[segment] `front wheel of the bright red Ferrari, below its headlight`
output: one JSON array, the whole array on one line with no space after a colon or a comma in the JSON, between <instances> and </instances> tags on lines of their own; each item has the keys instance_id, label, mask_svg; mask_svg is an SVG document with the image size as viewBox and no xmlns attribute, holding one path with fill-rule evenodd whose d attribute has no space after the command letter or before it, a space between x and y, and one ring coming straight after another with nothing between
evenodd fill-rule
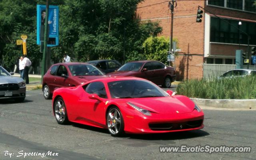
<instances>
[{"instance_id":1,"label":"front wheel of the bright red Ferrari, below its headlight","mask_svg":"<svg viewBox=\"0 0 256 160\"><path fill-rule=\"evenodd\" d=\"M108 131L112 136L121 136L124 134L124 119L119 108L111 107L107 114Z\"/></svg>"}]
</instances>

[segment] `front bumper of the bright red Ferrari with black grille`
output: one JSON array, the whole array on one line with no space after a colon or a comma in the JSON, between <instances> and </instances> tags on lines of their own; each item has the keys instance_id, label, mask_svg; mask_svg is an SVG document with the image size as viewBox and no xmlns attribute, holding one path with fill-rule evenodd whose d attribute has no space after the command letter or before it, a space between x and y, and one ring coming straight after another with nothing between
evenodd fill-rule
<instances>
[{"instance_id":1,"label":"front bumper of the bright red Ferrari with black grille","mask_svg":"<svg viewBox=\"0 0 256 160\"><path fill-rule=\"evenodd\" d=\"M131 134L150 134L198 130L204 128L204 113L194 110L184 114L124 115L124 131Z\"/></svg>"}]
</instances>

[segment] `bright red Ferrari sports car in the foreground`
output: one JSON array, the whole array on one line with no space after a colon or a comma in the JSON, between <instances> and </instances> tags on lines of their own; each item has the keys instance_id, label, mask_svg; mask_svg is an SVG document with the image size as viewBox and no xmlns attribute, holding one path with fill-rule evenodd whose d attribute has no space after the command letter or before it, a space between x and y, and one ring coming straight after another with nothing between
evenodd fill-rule
<instances>
[{"instance_id":1,"label":"bright red Ferrari sports car in the foreground","mask_svg":"<svg viewBox=\"0 0 256 160\"><path fill-rule=\"evenodd\" d=\"M204 127L204 113L190 98L136 77L102 78L58 88L52 108L59 124L71 121L107 128L112 136Z\"/></svg>"}]
</instances>

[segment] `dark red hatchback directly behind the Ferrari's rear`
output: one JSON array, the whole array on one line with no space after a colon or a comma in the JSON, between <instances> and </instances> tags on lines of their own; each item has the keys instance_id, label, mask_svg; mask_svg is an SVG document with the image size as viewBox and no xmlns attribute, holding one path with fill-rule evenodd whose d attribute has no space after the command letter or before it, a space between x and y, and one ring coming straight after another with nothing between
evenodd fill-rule
<instances>
[{"instance_id":1,"label":"dark red hatchback directly behind the Ferrari's rear","mask_svg":"<svg viewBox=\"0 0 256 160\"><path fill-rule=\"evenodd\" d=\"M52 92L56 88L77 86L104 77L107 76L91 64L79 62L53 64L43 77L44 98L52 98Z\"/></svg>"}]
</instances>

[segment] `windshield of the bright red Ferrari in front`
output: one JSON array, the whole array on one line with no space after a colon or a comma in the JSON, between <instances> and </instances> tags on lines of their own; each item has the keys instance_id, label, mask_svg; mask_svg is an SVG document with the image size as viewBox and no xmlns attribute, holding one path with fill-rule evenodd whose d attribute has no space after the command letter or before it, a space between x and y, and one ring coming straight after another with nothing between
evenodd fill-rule
<instances>
[{"instance_id":1,"label":"windshield of the bright red Ferrari in front","mask_svg":"<svg viewBox=\"0 0 256 160\"><path fill-rule=\"evenodd\" d=\"M108 82L112 98L146 98L168 96L164 90L145 80L120 80Z\"/></svg>"}]
</instances>

